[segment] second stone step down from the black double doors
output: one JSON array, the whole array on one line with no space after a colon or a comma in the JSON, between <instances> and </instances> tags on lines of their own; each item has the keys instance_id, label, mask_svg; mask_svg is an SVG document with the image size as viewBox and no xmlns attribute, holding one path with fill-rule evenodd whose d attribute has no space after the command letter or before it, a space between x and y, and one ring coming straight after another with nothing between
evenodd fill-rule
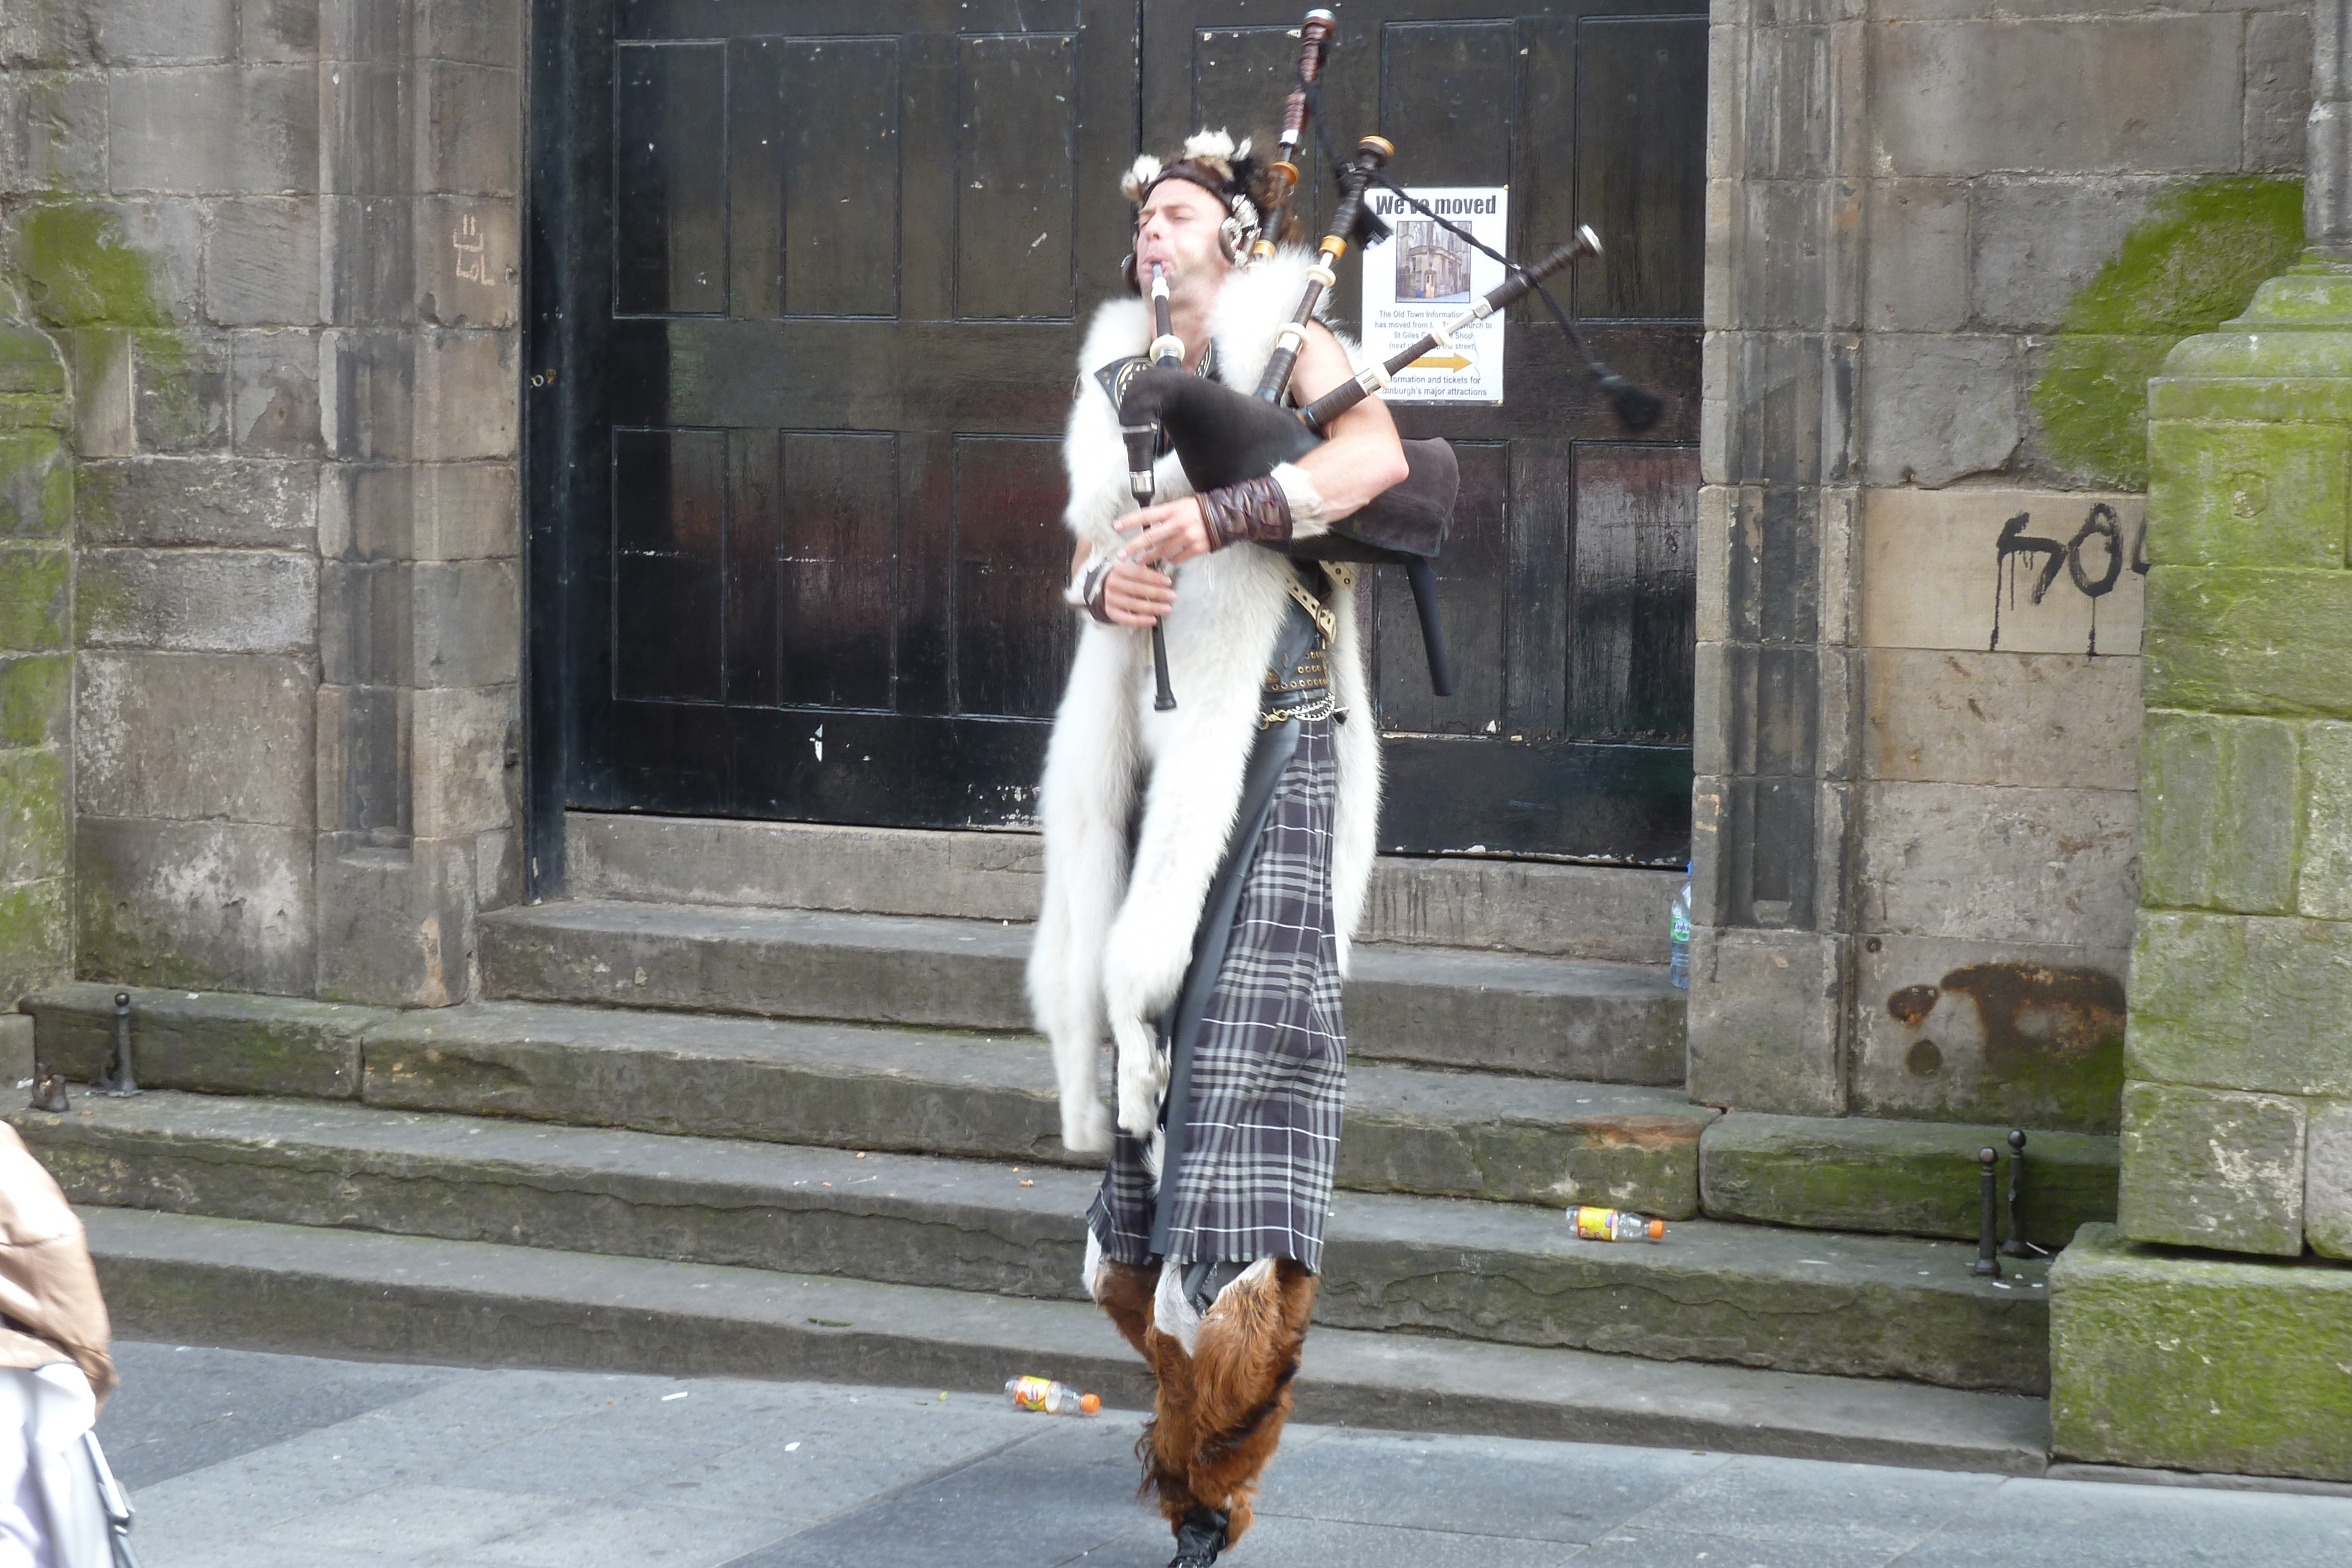
<instances>
[{"instance_id":1,"label":"second stone step down from the black double doors","mask_svg":"<svg viewBox=\"0 0 2352 1568\"><path fill-rule=\"evenodd\" d=\"M480 922L482 994L1025 1032L1030 926L830 910L567 900ZM1682 1084L1663 969L1517 952L1359 947L1357 1060L1595 1084Z\"/></svg>"}]
</instances>

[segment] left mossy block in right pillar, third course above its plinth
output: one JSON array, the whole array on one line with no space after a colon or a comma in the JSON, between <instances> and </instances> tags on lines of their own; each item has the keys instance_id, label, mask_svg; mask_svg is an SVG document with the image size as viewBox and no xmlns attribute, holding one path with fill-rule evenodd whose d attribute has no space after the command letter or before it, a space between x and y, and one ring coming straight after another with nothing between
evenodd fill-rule
<instances>
[{"instance_id":1,"label":"left mossy block in right pillar, third course above its plinth","mask_svg":"<svg viewBox=\"0 0 2352 1568\"><path fill-rule=\"evenodd\" d=\"M2140 750L2140 893L2152 907L2288 914L2303 726L2154 710Z\"/></svg>"}]
</instances>

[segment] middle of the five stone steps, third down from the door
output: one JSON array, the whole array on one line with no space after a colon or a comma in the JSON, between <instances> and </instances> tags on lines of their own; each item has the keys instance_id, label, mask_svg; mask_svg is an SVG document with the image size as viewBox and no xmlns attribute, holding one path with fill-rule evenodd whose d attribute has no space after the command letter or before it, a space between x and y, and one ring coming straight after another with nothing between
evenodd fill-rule
<instances>
[{"instance_id":1,"label":"middle of the five stone steps, third down from the door","mask_svg":"<svg viewBox=\"0 0 2352 1568\"><path fill-rule=\"evenodd\" d=\"M1091 1164L1061 1147L1047 1048L776 1018L473 1001L395 1011L134 990L139 1081L202 1093L358 1098L652 1133ZM26 1001L40 1053L92 1081L111 985ZM1522 1204L1698 1213L1698 1135L1679 1091L1357 1063L1338 1180Z\"/></svg>"}]
</instances>

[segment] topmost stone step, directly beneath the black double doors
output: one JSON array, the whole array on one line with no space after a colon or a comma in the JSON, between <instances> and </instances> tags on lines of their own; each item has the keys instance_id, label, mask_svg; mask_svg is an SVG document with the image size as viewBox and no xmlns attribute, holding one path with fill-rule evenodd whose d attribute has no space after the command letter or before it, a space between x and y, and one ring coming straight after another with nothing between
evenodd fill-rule
<instances>
[{"instance_id":1,"label":"topmost stone step, directly beneath the black double doors","mask_svg":"<svg viewBox=\"0 0 2352 1568\"><path fill-rule=\"evenodd\" d=\"M1037 919L1035 832L929 832L572 811L572 898ZM1367 943L1656 964L1682 872L1484 856L1381 856Z\"/></svg>"}]
</instances>

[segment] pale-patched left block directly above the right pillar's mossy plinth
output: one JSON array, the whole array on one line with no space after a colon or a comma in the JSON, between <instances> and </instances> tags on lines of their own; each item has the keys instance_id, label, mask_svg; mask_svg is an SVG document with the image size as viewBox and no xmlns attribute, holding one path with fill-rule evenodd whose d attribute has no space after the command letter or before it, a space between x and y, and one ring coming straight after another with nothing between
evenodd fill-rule
<instances>
[{"instance_id":1,"label":"pale-patched left block directly above the right pillar's mossy plinth","mask_svg":"<svg viewBox=\"0 0 2352 1568\"><path fill-rule=\"evenodd\" d=\"M2133 1241L2303 1251L2303 1100L2124 1084L2117 1222Z\"/></svg>"}]
</instances>

